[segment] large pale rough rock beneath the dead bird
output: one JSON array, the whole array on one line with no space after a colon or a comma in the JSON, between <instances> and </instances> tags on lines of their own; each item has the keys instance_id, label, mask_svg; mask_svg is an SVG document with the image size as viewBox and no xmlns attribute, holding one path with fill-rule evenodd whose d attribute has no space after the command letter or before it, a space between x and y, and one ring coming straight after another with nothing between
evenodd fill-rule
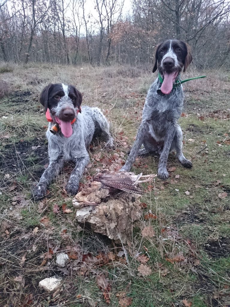
<instances>
[{"instance_id":1,"label":"large pale rough rock beneath the dead bird","mask_svg":"<svg viewBox=\"0 0 230 307\"><path fill-rule=\"evenodd\" d=\"M118 243L122 241L123 244L132 238L132 228L143 212L140 195L127 192L108 198L98 206L79 208L79 202L75 199L73 205L78 209L75 223L117 240Z\"/></svg>"}]
</instances>

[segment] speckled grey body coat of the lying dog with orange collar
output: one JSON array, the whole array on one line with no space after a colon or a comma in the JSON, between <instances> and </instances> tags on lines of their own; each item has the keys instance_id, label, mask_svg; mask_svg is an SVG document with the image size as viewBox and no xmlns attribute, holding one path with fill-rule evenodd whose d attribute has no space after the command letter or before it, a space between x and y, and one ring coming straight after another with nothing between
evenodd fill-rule
<instances>
[{"instance_id":1,"label":"speckled grey body coat of the lying dog with orange collar","mask_svg":"<svg viewBox=\"0 0 230 307\"><path fill-rule=\"evenodd\" d=\"M66 102L60 102L62 105ZM73 108L71 103L67 105ZM59 108L56 107L57 109ZM75 112L76 112L75 108ZM38 185L33 189L33 197L39 199L46 194L48 186L58 175L65 161L75 161L66 190L68 194L75 195L78 192L79 181L82 173L89 163L90 158L86 148L89 147L93 137L102 136L107 146L113 146L113 138L109 133L109 123L101 110L97 107L82 107L82 113L78 113L76 121L72 125L73 134L65 138L59 130L56 135L50 132L53 123L49 123L46 136L48 139L49 166L44 171Z\"/></svg>"}]
</instances>

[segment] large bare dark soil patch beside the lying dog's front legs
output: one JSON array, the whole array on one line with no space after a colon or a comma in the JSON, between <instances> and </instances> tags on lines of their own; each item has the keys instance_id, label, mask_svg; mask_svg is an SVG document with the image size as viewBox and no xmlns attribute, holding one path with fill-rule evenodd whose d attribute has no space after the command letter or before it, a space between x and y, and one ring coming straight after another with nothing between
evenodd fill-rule
<instances>
[{"instance_id":1,"label":"large bare dark soil patch beside the lying dog's front legs","mask_svg":"<svg viewBox=\"0 0 230 307\"><path fill-rule=\"evenodd\" d=\"M48 163L48 146L44 139L11 143L4 149L4 158L0 162L3 173L28 173L27 170L30 170L33 178L38 179Z\"/></svg>"}]
</instances>

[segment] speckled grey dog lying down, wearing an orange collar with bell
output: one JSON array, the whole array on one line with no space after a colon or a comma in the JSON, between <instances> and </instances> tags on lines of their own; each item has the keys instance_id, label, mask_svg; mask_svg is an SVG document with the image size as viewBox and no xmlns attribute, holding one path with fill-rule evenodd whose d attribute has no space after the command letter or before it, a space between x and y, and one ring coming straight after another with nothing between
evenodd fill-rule
<instances>
[{"instance_id":1,"label":"speckled grey dog lying down, wearing an orange collar with bell","mask_svg":"<svg viewBox=\"0 0 230 307\"><path fill-rule=\"evenodd\" d=\"M38 185L33 189L34 199L46 194L52 180L58 175L65 161L74 161L66 191L75 195L79 189L79 180L89 163L87 148L95 137L103 137L106 145L113 147L113 138L109 133L109 123L97 107L82 107L82 95L72 85L49 84L41 95L49 123L48 139L49 166L44 171ZM51 128L56 123L56 134Z\"/></svg>"}]
</instances>

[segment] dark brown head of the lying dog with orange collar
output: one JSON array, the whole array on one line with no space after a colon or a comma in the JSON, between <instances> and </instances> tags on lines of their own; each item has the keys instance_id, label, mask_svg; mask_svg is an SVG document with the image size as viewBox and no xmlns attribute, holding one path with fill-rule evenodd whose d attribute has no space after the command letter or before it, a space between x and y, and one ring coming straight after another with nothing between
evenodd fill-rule
<instances>
[{"instance_id":1,"label":"dark brown head of the lying dog with orange collar","mask_svg":"<svg viewBox=\"0 0 230 307\"><path fill-rule=\"evenodd\" d=\"M71 122L81 112L82 94L73 86L63 83L48 84L40 94L40 103L50 110L53 122L59 124L64 136L72 135Z\"/></svg>"}]
</instances>

